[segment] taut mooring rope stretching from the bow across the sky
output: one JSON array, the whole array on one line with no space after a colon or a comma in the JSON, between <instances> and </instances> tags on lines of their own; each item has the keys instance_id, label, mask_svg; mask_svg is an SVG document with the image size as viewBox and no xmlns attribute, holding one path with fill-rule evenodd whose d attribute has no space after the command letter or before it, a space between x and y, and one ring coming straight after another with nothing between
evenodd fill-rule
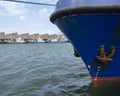
<instances>
[{"instance_id":1,"label":"taut mooring rope stretching from the bow across the sky","mask_svg":"<svg viewBox=\"0 0 120 96\"><path fill-rule=\"evenodd\" d=\"M35 5L43 5L43 6L56 6L54 4L29 2L29 1L20 1L20 0L1 0L1 1L9 1L9 2L16 2L16 3L26 3L26 4L35 4Z\"/></svg>"}]
</instances>

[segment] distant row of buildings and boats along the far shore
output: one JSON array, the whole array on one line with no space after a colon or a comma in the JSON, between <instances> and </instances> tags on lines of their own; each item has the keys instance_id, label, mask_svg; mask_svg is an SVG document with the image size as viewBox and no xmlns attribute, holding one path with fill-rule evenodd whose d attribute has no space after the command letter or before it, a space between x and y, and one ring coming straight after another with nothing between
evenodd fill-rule
<instances>
[{"instance_id":1,"label":"distant row of buildings and boats along the far shore","mask_svg":"<svg viewBox=\"0 0 120 96\"><path fill-rule=\"evenodd\" d=\"M16 44L16 43L35 43L35 42L61 42L68 40L63 34L42 34L39 33L29 34L24 33L18 35L17 32L5 34L5 32L0 32L0 43L9 43L9 44Z\"/></svg>"}]
</instances>

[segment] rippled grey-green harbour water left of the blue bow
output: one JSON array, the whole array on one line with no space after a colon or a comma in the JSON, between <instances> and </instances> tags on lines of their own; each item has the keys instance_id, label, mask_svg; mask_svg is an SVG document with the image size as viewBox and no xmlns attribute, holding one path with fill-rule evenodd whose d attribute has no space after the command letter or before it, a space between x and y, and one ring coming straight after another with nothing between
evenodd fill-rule
<instances>
[{"instance_id":1,"label":"rippled grey-green harbour water left of the blue bow","mask_svg":"<svg viewBox=\"0 0 120 96\"><path fill-rule=\"evenodd\" d=\"M0 96L90 96L71 44L0 45Z\"/></svg>"}]
</instances>

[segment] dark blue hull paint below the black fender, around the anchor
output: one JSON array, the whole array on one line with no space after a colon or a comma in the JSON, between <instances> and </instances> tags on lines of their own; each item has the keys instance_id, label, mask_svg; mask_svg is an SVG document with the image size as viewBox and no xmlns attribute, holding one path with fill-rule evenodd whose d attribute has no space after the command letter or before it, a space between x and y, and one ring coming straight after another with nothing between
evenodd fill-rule
<instances>
[{"instance_id":1,"label":"dark blue hull paint below the black fender, around the anchor","mask_svg":"<svg viewBox=\"0 0 120 96\"><path fill-rule=\"evenodd\" d=\"M101 68L99 77L120 76L120 35L117 41L111 42L113 33L120 24L120 15L74 15L57 19L55 24L78 50L86 67L90 65L91 68L88 69L92 77L95 77L97 72L93 59L100 45L105 45L106 52L111 46L116 46L113 62Z\"/></svg>"}]
</instances>

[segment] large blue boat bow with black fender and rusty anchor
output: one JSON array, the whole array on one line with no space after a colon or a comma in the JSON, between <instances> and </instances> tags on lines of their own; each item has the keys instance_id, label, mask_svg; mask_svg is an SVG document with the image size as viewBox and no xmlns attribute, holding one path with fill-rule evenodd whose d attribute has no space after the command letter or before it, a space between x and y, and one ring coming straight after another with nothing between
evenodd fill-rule
<instances>
[{"instance_id":1,"label":"large blue boat bow with black fender and rusty anchor","mask_svg":"<svg viewBox=\"0 0 120 96\"><path fill-rule=\"evenodd\" d=\"M50 20L77 50L93 82L120 81L120 0L59 0Z\"/></svg>"}]
</instances>

